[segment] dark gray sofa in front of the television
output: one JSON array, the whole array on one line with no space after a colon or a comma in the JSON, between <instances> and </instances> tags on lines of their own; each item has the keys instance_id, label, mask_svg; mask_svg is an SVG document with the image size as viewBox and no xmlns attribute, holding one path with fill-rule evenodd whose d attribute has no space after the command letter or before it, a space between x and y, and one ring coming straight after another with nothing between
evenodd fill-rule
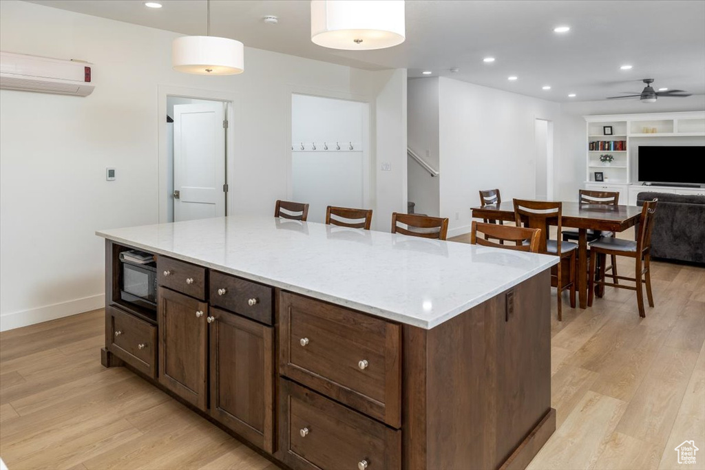
<instances>
[{"instance_id":1,"label":"dark gray sofa in front of the television","mask_svg":"<svg viewBox=\"0 0 705 470\"><path fill-rule=\"evenodd\" d=\"M705 196L639 192L637 205L658 199L651 256L705 264Z\"/></svg>"}]
</instances>

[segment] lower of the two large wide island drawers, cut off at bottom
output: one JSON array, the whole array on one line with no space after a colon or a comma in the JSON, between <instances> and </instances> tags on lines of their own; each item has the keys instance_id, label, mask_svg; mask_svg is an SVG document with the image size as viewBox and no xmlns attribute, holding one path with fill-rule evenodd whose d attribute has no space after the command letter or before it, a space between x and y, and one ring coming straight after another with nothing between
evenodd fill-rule
<instances>
[{"instance_id":1,"label":"lower of the two large wide island drawers, cut off at bottom","mask_svg":"<svg viewBox=\"0 0 705 470\"><path fill-rule=\"evenodd\" d=\"M278 456L293 469L401 468L401 431L280 379Z\"/></svg>"}]
</instances>

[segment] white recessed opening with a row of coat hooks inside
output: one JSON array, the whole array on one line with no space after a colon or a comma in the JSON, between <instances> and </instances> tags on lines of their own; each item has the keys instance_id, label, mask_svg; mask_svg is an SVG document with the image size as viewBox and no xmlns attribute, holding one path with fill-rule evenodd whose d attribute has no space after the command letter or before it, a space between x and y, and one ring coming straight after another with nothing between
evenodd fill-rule
<instances>
[{"instance_id":1,"label":"white recessed opening with a row of coat hooks inside","mask_svg":"<svg viewBox=\"0 0 705 470\"><path fill-rule=\"evenodd\" d=\"M369 208L369 105L292 94L292 197L324 222L326 206Z\"/></svg>"}]
</instances>

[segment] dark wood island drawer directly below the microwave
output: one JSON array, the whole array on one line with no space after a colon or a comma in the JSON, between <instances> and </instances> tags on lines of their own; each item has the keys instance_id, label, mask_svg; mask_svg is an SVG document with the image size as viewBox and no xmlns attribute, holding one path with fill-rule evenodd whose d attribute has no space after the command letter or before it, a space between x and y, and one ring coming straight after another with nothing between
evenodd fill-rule
<instances>
[{"instance_id":1,"label":"dark wood island drawer directly below the microwave","mask_svg":"<svg viewBox=\"0 0 705 470\"><path fill-rule=\"evenodd\" d=\"M105 307L110 352L150 377L157 377L157 326L115 307Z\"/></svg>"}]
</instances>

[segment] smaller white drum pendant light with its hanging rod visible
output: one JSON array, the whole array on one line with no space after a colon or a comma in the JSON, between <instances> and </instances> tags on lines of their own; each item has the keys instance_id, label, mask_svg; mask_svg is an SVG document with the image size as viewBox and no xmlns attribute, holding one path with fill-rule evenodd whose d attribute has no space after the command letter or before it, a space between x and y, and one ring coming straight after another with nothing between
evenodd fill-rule
<instances>
[{"instance_id":1,"label":"smaller white drum pendant light with its hanging rod visible","mask_svg":"<svg viewBox=\"0 0 705 470\"><path fill-rule=\"evenodd\" d=\"M198 75L235 75L245 71L243 43L211 36L211 0L208 3L207 36L183 36L171 44L174 70Z\"/></svg>"}]
</instances>

